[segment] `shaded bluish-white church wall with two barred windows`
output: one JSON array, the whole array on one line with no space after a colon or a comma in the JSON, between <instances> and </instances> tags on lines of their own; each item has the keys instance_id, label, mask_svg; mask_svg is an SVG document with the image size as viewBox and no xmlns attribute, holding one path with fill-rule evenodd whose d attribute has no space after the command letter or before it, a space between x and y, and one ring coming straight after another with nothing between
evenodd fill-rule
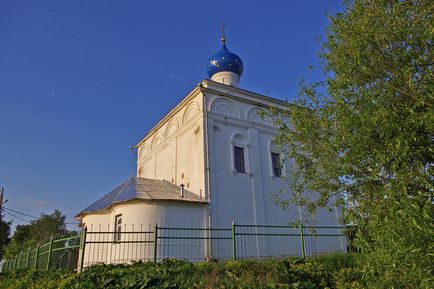
<instances>
[{"instance_id":1,"label":"shaded bluish-white church wall with two barred windows","mask_svg":"<svg viewBox=\"0 0 434 289\"><path fill-rule=\"evenodd\" d=\"M225 93L231 93L230 89ZM213 227L230 227L237 224L289 225L300 216L307 219L294 205L287 210L280 208L272 199L272 193L286 192L288 185L283 178L272 175L271 150L276 130L267 119L262 119L257 111L262 110L262 99L255 104L251 95L243 100L240 91L234 97L206 93L208 110L208 142L210 159L211 216ZM235 173L233 168L234 134L247 139L244 149L247 173ZM283 176L290 174L290 161L285 162ZM337 212L320 210L316 216L318 226L339 226ZM244 233L295 233L298 229L240 228ZM284 231L282 231L284 230ZM307 231L306 231L307 233ZM337 233L337 230L322 230L321 233ZM280 255L301 255L299 237L242 237L239 256L265 257ZM308 255L327 251L344 251L342 237L306 237ZM230 245L227 242L213 242L213 255L229 257Z\"/></svg>"}]
</instances>

